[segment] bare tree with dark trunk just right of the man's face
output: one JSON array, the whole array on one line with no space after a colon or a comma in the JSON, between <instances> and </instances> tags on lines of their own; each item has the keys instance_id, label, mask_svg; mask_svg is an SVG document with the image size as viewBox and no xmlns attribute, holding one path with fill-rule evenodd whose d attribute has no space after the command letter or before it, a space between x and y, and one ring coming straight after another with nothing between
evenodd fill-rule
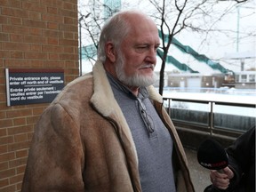
<instances>
[{"instance_id":1,"label":"bare tree with dark trunk just right of the man's face","mask_svg":"<svg viewBox=\"0 0 256 192\"><path fill-rule=\"evenodd\" d=\"M159 93L163 94L164 68L170 46L175 44L173 37L188 28L201 33L209 33L212 31L214 24L220 21L231 8L227 7L225 12L221 12L216 16L212 15L213 6L218 3L218 1L214 0L174 0L171 2L166 0L149 0L149 2L155 7L156 11L151 12L151 17L155 18L159 26L159 35L162 39L162 46L157 50L157 55L162 60L159 74ZM234 2L242 4L246 0L236 0ZM198 20L201 20L201 22Z\"/></svg>"}]
</instances>

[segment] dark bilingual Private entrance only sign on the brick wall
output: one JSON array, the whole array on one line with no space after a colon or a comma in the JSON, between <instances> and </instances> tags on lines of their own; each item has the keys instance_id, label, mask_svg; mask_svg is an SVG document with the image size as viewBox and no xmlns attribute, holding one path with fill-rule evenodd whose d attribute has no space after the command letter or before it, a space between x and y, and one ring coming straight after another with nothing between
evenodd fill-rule
<instances>
[{"instance_id":1,"label":"dark bilingual Private entrance only sign on the brick wall","mask_svg":"<svg viewBox=\"0 0 256 192\"><path fill-rule=\"evenodd\" d=\"M5 68L7 106L49 103L64 87L62 68Z\"/></svg>"}]
</instances>

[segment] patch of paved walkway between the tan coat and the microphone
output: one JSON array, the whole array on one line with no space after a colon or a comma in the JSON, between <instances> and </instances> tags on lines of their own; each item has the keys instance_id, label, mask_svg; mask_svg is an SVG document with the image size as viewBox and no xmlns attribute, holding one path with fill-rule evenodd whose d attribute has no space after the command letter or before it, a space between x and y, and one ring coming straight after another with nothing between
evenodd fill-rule
<instances>
[{"instance_id":1,"label":"patch of paved walkway between the tan coat and the microphone","mask_svg":"<svg viewBox=\"0 0 256 192\"><path fill-rule=\"evenodd\" d=\"M209 179L210 171L198 164L196 150L185 148L185 152L188 157L188 168L190 170L196 192L204 192L204 188L211 184Z\"/></svg>"}]
</instances>

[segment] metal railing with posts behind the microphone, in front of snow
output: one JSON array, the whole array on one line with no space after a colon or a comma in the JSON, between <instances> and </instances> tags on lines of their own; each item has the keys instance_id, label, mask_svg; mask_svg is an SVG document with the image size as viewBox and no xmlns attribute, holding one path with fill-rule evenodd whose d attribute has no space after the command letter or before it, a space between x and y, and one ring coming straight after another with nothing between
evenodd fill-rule
<instances>
[{"instance_id":1,"label":"metal railing with posts behind the microphone, in front of snow","mask_svg":"<svg viewBox=\"0 0 256 192\"><path fill-rule=\"evenodd\" d=\"M177 106L177 103L181 103ZM176 106L175 106L176 103ZM201 111L200 109L186 108L186 104L203 104L207 106L207 110ZM185 107L184 107L185 106ZM198 146L205 136L215 137L222 140L224 143L228 140L227 145L236 140L243 132L255 126L255 104L250 103L234 103L227 101L216 100L195 100L195 99L178 99L178 98L164 98L164 107L166 108L169 116L172 118L173 124L180 132L181 140L190 142L193 145L196 142ZM220 113L216 111L219 107L231 107L230 113ZM233 109L238 108L238 111L252 111L244 115L232 114ZM229 120L228 120L229 119ZM227 126L228 124L228 126ZM187 133L186 133L187 132ZM193 134L191 134L193 133ZM194 138L191 138L193 135ZM197 140L196 137L200 136ZM182 138L183 137L183 138ZM194 141L193 141L194 140ZM195 147L195 146L194 146Z\"/></svg>"}]
</instances>

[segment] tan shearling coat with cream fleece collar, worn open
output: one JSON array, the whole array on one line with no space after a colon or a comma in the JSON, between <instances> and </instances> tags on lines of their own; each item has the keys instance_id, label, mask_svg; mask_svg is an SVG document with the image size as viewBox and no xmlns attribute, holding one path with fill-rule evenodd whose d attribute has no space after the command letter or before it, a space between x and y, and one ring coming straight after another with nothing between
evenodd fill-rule
<instances>
[{"instance_id":1,"label":"tan shearling coat with cream fleece collar, worn open","mask_svg":"<svg viewBox=\"0 0 256 192\"><path fill-rule=\"evenodd\" d=\"M148 92L172 135L177 192L193 192L187 159L163 99L153 86ZM21 191L141 191L132 133L100 61L92 73L69 83L44 110L29 149Z\"/></svg>"}]
</instances>

